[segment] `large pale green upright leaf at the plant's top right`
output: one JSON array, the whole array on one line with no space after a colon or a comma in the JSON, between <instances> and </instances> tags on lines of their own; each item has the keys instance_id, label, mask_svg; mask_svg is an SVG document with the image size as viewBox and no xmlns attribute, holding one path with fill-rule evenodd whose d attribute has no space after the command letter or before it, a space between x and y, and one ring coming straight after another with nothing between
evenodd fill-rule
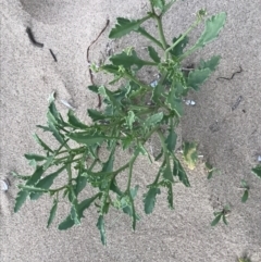
<instances>
[{"instance_id":1,"label":"large pale green upright leaf at the plant's top right","mask_svg":"<svg viewBox=\"0 0 261 262\"><path fill-rule=\"evenodd\" d=\"M226 13L222 12L208 18L204 24L204 30L195 47L202 48L207 43L219 37L220 30L224 27Z\"/></svg>"}]
</instances>

